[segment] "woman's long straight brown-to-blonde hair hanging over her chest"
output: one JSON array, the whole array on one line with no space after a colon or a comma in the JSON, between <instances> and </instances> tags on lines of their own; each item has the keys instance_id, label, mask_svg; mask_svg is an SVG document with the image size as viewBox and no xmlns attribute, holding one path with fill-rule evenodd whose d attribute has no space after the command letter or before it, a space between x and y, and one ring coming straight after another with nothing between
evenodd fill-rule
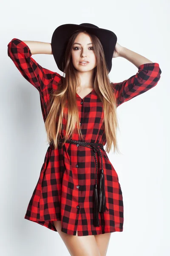
<instances>
[{"instance_id":1,"label":"woman's long straight brown-to-blonde hair hanging over her chest","mask_svg":"<svg viewBox=\"0 0 170 256\"><path fill-rule=\"evenodd\" d=\"M119 151L116 141L116 129L119 128L116 115L116 98L108 77L109 72L105 61L103 47L99 38L84 30L77 30L69 38L65 50L65 58L62 63L65 78L61 77L58 89L53 90L50 93L50 104L48 105L49 112L45 120L48 143L52 141L54 148L56 149L61 131L65 131L63 142L65 143L67 139L71 139L71 135L75 132L75 129L77 129L80 140L83 139L79 125L79 114L76 99L76 91L79 82L71 58L71 50L73 48L74 41L80 32L87 33L91 36L94 53L96 55L97 65L94 68L93 76L94 89L103 105L103 125L105 127L106 151L109 153L112 148L112 144L114 146L114 152L115 149Z\"/></svg>"}]
</instances>

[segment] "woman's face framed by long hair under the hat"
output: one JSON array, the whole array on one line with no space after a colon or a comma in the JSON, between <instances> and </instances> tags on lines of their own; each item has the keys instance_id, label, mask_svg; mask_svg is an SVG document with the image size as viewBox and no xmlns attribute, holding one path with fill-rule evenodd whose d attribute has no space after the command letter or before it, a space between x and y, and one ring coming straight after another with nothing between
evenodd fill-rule
<instances>
[{"instance_id":1,"label":"woman's face framed by long hair under the hat","mask_svg":"<svg viewBox=\"0 0 170 256\"><path fill-rule=\"evenodd\" d=\"M77 35L71 51L72 61L75 69L79 72L87 72L96 67L96 55L94 54L91 37L83 32ZM81 64L80 61L88 61Z\"/></svg>"}]
</instances>

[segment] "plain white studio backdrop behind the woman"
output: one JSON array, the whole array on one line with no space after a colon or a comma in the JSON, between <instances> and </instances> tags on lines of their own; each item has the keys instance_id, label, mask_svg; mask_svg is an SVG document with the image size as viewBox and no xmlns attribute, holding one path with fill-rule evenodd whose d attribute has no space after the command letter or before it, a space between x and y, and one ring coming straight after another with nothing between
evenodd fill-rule
<instances>
[{"instance_id":1,"label":"plain white studio backdrop behind the woman","mask_svg":"<svg viewBox=\"0 0 170 256\"><path fill-rule=\"evenodd\" d=\"M0 250L3 256L68 256L57 232L24 219L48 148L38 91L7 55L12 38L51 42L57 26L93 23L112 30L118 43L161 68L156 87L118 109L118 145L108 154L119 175L124 230L111 234L107 256L167 256L170 234L170 3L143 1L21 1L1 3L0 77ZM53 55L33 55L59 74ZM112 82L138 69L114 58Z\"/></svg>"}]
</instances>

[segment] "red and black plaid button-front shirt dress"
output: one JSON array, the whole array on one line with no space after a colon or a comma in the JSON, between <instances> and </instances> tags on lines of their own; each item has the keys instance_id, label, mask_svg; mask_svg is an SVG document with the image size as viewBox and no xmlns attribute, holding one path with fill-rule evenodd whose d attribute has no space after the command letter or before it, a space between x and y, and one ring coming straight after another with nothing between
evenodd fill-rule
<instances>
[{"instance_id":1,"label":"red and black plaid button-front shirt dress","mask_svg":"<svg viewBox=\"0 0 170 256\"><path fill-rule=\"evenodd\" d=\"M8 56L23 77L40 93L43 119L51 90L57 90L61 76L41 67L32 57L29 47L14 38L8 44ZM158 63L139 66L136 75L120 83L111 83L117 106L150 90L160 79ZM85 142L105 145L102 102L95 90L83 99L76 94L77 108ZM62 131L61 137L63 137ZM73 134L72 140L78 140ZM101 149L105 175L106 210L99 214L99 227L93 225L93 195L95 184L94 151L83 145L65 143L57 150L49 145L40 177L28 204L24 218L57 231L53 221L62 222L62 232L78 236L123 231L123 198L118 175L104 149ZM98 158L100 165L100 157Z\"/></svg>"}]
</instances>

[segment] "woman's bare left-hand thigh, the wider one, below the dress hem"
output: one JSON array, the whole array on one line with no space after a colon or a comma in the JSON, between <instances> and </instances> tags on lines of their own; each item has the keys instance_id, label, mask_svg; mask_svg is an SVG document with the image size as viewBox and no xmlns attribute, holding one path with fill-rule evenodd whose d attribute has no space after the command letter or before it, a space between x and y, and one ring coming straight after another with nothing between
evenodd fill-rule
<instances>
[{"instance_id":1,"label":"woman's bare left-hand thigh, the wider one, below the dress hem","mask_svg":"<svg viewBox=\"0 0 170 256\"><path fill-rule=\"evenodd\" d=\"M65 243L71 256L100 256L99 248L94 235L76 236L61 231L61 221L53 221L57 232Z\"/></svg>"}]
</instances>

